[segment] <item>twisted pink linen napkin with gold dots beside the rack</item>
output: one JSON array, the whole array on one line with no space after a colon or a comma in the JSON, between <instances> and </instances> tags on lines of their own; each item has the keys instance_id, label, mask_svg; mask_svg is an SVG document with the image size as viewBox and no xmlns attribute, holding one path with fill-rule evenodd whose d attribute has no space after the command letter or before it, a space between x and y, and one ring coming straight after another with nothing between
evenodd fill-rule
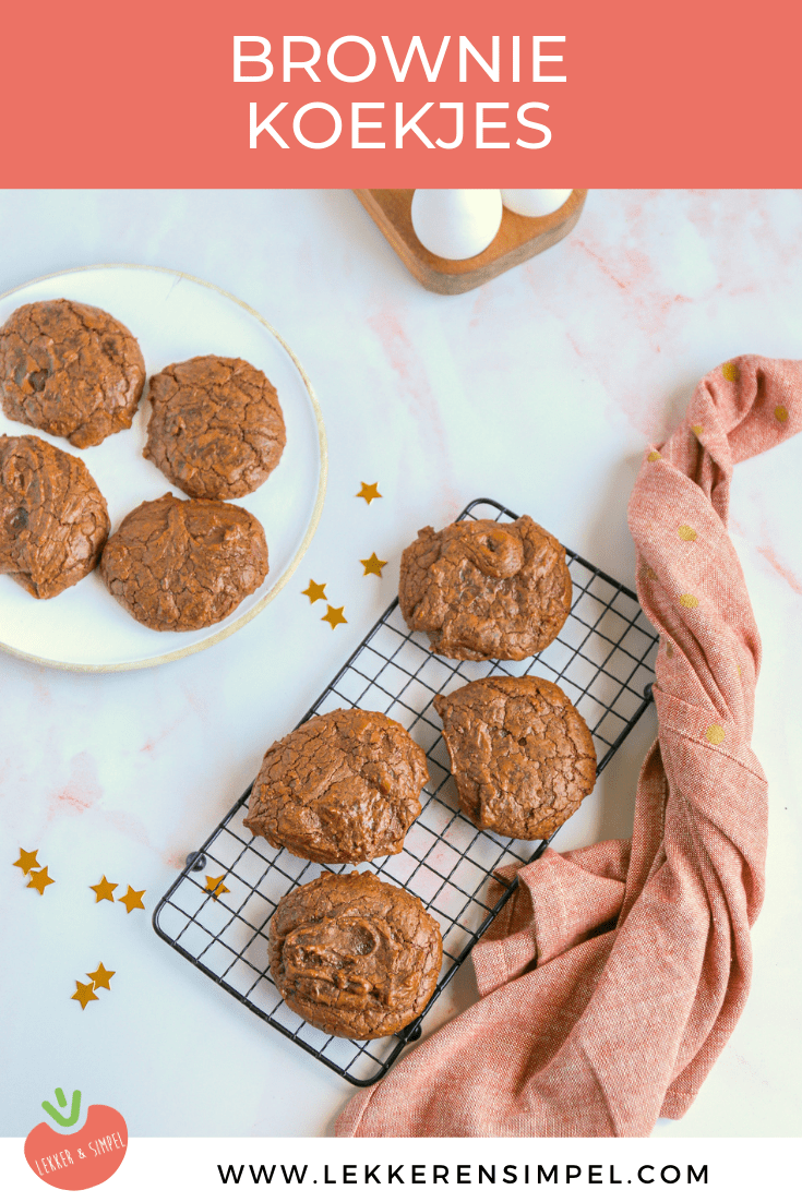
<instances>
[{"instance_id":1,"label":"twisted pink linen napkin with gold dots beside the rack","mask_svg":"<svg viewBox=\"0 0 802 1202\"><path fill-rule=\"evenodd\" d=\"M629 524L659 736L632 838L519 871L474 950L481 999L357 1094L339 1136L646 1136L690 1106L743 1010L764 895L760 639L730 480L802 428L801 398L802 363L743 356L647 452Z\"/></svg>"}]
</instances>

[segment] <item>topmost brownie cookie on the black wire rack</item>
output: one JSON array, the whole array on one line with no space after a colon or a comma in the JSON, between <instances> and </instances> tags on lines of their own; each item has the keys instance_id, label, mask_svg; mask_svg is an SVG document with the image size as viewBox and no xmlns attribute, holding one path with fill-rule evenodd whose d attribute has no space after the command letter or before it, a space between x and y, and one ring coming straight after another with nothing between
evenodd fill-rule
<instances>
[{"instance_id":1,"label":"topmost brownie cookie on the black wire rack","mask_svg":"<svg viewBox=\"0 0 802 1202\"><path fill-rule=\"evenodd\" d=\"M571 608L557 538L529 517L418 531L402 555L400 609L430 650L453 660L523 660L542 651Z\"/></svg>"}]
</instances>

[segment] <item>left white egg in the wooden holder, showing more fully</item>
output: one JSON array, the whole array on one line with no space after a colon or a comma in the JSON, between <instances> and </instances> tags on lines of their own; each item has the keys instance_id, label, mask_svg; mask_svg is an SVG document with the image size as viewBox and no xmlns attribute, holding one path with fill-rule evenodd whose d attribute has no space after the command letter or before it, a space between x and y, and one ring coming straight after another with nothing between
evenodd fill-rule
<instances>
[{"instance_id":1,"label":"left white egg in the wooden holder, showing more fully","mask_svg":"<svg viewBox=\"0 0 802 1202\"><path fill-rule=\"evenodd\" d=\"M427 250L441 258L473 258L501 225L497 188L416 188L412 228Z\"/></svg>"}]
</instances>

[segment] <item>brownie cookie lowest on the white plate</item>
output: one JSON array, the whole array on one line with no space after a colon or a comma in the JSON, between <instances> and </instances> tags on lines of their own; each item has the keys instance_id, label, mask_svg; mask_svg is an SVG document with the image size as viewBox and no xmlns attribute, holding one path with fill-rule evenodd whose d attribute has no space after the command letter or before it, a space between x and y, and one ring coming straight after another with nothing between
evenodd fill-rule
<instances>
[{"instance_id":1,"label":"brownie cookie lowest on the white plate","mask_svg":"<svg viewBox=\"0 0 802 1202\"><path fill-rule=\"evenodd\" d=\"M152 630L202 630L227 618L267 576L265 530L238 505L166 493L123 518L100 575Z\"/></svg>"}]
</instances>

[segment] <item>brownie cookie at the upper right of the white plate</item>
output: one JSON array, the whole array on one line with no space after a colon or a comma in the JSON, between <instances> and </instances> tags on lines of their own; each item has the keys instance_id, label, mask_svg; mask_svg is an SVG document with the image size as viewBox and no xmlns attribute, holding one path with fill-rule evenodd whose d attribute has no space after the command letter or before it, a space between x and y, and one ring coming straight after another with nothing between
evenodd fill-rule
<instances>
[{"instance_id":1,"label":"brownie cookie at the upper right of the white plate","mask_svg":"<svg viewBox=\"0 0 802 1202\"><path fill-rule=\"evenodd\" d=\"M152 376L145 459L189 496L245 496L286 442L275 388L244 359L204 355Z\"/></svg>"}]
</instances>

